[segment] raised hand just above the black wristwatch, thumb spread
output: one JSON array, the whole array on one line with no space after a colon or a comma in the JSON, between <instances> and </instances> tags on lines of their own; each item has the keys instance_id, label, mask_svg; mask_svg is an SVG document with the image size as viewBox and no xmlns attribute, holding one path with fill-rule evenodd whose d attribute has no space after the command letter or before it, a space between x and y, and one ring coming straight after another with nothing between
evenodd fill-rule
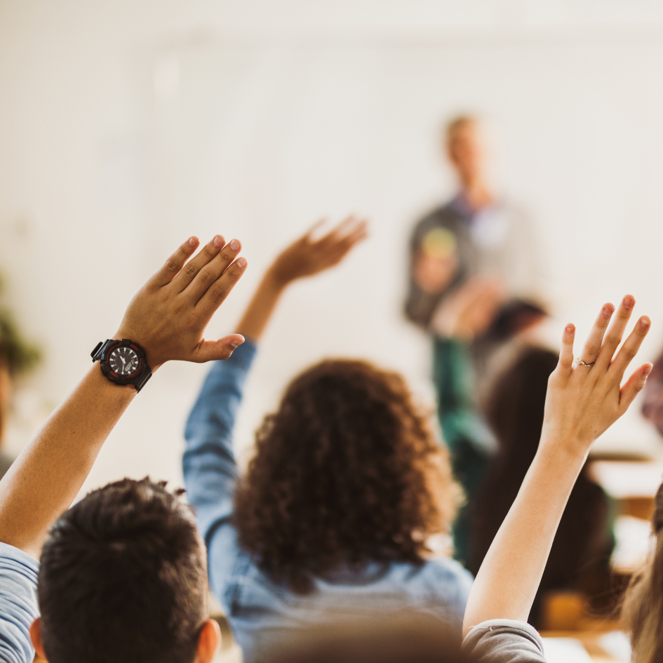
<instances>
[{"instance_id":1,"label":"raised hand just above the black wristwatch, thumb spread","mask_svg":"<svg viewBox=\"0 0 663 663\"><path fill-rule=\"evenodd\" d=\"M152 370L170 359L227 359L244 340L239 334L203 339L211 317L246 269L245 258L235 260L241 243L225 243L215 235L189 260L198 245L196 237L188 239L138 290L114 336L138 342Z\"/></svg>"}]
</instances>

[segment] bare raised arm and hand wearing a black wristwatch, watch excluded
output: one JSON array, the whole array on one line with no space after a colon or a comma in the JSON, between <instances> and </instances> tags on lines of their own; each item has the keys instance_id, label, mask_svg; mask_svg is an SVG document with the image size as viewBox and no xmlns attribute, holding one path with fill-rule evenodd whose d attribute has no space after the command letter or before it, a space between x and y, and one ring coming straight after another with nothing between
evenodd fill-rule
<instances>
[{"instance_id":1,"label":"bare raised arm and hand wearing a black wristwatch, watch excluded","mask_svg":"<svg viewBox=\"0 0 663 663\"><path fill-rule=\"evenodd\" d=\"M235 260L241 245L217 235L189 260L198 245L192 237L168 258L130 302L113 336L138 342L153 371L170 359L225 359L243 342L238 334L203 339L246 269L246 260ZM109 382L96 364L88 371L0 481L0 542L39 556L48 527L69 508L135 394L131 385Z\"/></svg>"}]
</instances>

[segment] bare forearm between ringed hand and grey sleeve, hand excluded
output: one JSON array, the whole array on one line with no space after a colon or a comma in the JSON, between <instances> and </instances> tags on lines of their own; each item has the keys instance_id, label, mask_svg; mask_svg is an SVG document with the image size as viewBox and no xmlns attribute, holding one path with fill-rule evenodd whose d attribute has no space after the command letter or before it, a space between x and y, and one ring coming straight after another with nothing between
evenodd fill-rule
<instances>
[{"instance_id":1,"label":"bare forearm between ringed hand and grey sleeve, hand excluded","mask_svg":"<svg viewBox=\"0 0 663 663\"><path fill-rule=\"evenodd\" d=\"M493 619L527 621L566 502L585 457L542 445L485 556L463 634Z\"/></svg>"}]
</instances>

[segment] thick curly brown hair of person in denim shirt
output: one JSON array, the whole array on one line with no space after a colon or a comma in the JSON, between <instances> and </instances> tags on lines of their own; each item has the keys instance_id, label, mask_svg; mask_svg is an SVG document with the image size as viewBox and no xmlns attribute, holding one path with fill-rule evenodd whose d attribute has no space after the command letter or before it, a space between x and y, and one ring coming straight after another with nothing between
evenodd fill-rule
<instances>
[{"instance_id":1,"label":"thick curly brown hair of person in denim shirt","mask_svg":"<svg viewBox=\"0 0 663 663\"><path fill-rule=\"evenodd\" d=\"M235 495L241 546L305 593L346 563L420 564L460 501L448 454L405 380L364 361L323 361L265 417Z\"/></svg>"}]
</instances>

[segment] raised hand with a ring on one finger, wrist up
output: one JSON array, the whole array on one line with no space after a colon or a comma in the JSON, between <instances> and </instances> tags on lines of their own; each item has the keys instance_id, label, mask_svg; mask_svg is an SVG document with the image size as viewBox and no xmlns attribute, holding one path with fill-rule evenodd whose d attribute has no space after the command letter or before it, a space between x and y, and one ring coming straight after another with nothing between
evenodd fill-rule
<instances>
[{"instance_id":1,"label":"raised hand with a ring on one finger, wrist up","mask_svg":"<svg viewBox=\"0 0 663 663\"><path fill-rule=\"evenodd\" d=\"M651 363L637 368L623 386L622 379L650 329L647 316L638 319L615 355L635 303L631 295L624 297L610 328L615 307L603 306L579 361L573 356L575 327L566 326L559 363L548 382L542 444L555 441L570 451L586 454L591 443L627 411L645 386Z\"/></svg>"}]
</instances>

